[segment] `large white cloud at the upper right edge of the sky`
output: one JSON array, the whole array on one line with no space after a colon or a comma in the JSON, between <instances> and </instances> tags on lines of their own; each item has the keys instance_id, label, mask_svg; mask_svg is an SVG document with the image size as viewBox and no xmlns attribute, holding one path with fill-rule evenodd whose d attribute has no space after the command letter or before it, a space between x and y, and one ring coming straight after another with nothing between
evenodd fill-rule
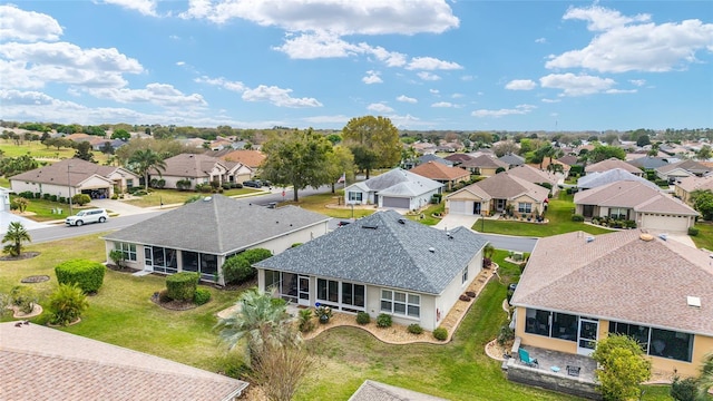
<instances>
[{"instance_id":1,"label":"large white cloud at the upper right edge of the sky","mask_svg":"<svg viewBox=\"0 0 713 401\"><path fill-rule=\"evenodd\" d=\"M550 56L547 68L663 72L684 69L697 62L696 51L713 49L713 23L697 19L655 25L648 14L625 17L598 6L572 8L564 19L586 20L600 33L583 49Z\"/></svg>"}]
</instances>

